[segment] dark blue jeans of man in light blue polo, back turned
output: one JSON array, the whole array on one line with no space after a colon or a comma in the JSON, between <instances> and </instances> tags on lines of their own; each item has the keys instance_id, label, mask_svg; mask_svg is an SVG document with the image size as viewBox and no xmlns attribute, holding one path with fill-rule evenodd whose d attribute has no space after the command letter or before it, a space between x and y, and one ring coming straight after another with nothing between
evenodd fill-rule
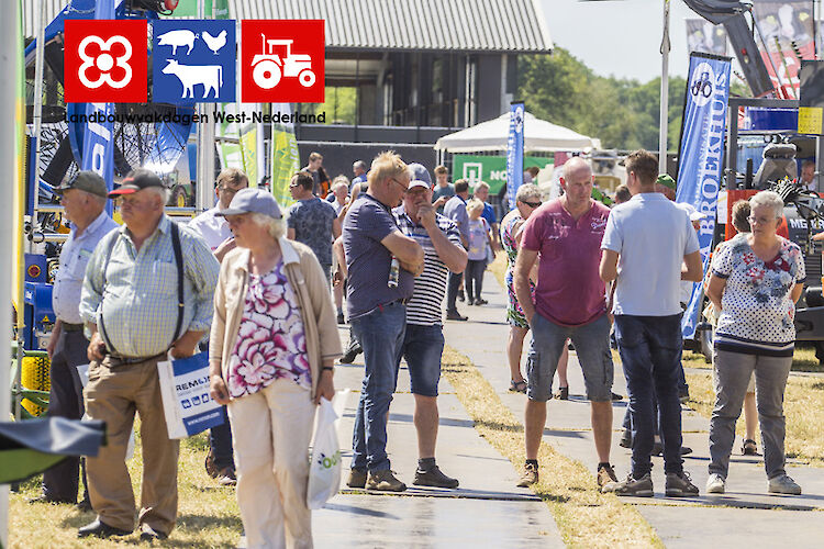
<instances>
[{"instance_id":1,"label":"dark blue jeans of man in light blue polo, back turned","mask_svg":"<svg viewBox=\"0 0 824 549\"><path fill-rule=\"evenodd\" d=\"M670 316L615 315L615 337L630 392L633 428L632 470L641 479L652 469L655 436L655 400L664 445L664 470L680 473L681 403L678 373L681 369L681 314Z\"/></svg>"}]
</instances>

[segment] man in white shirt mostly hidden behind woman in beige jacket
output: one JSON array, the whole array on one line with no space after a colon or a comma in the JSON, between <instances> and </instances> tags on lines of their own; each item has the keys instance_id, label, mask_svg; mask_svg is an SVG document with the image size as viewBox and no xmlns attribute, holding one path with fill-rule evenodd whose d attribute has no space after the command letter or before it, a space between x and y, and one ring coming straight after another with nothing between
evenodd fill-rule
<instances>
[{"instance_id":1,"label":"man in white shirt mostly hidden behind woman in beige jacket","mask_svg":"<svg viewBox=\"0 0 824 549\"><path fill-rule=\"evenodd\" d=\"M235 247L235 240L234 235L229 229L226 219L215 214L227 209L235 193L248 186L249 180L243 170L237 168L224 169L218 176L218 186L214 190L218 195L218 203L214 208L207 210L189 222L189 228L203 237L218 261L222 261L223 256ZM213 427L209 432L207 472L223 485L234 485L237 479L232 449L232 428L226 416L226 406L223 406L223 419L222 425Z\"/></svg>"}]
</instances>

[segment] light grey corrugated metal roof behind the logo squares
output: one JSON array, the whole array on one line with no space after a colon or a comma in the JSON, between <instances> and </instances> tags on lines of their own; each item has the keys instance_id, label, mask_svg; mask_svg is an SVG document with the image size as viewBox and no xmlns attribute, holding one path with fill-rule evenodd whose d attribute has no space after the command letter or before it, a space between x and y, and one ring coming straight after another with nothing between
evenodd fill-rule
<instances>
[{"instance_id":1,"label":"light grey corrugated metal roof behind the logo squares","mask_svg":"<svg viewBox=\"0 0 824 549\"><path fill-rule=\"evenodd\" d=\"M68 0L24 0L26 36L35 3L48 21ZM229 0L234 19L323 19L329 49L549 53L539 0Z\"/></svg>"}]
</instances>

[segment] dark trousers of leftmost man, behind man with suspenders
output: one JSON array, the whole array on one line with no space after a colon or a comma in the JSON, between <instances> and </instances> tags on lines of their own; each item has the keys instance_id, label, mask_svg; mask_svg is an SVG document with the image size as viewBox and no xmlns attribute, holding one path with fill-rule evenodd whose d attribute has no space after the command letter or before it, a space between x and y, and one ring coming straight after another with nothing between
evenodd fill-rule
<instances>
[{"instance_id":1,"label":"dark trousers of leftmost man, behind man with suspenders","mask_svg":"<svg viewBox=\"0 0 824 549\"><path fill-rule=\"evenodd\" d=\"M77 367L89 363L89 340L82 332L62 330L49 368L48 416L80 419L83 415L82 383ZM43 473L43 495L49 500L77 502L80 458L67 458ZM86 471L83 471L86 484ZM88 491L85 496L88 497Z\"/></svg>"}]
</instances>

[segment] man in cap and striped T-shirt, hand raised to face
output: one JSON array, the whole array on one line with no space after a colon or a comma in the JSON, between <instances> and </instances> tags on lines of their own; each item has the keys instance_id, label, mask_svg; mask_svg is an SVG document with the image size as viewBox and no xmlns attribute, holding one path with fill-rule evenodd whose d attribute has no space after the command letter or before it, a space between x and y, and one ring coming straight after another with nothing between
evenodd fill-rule
<instances>
[{"instance_id":1,"label":"man in cap and striped T-shirt, hand raised to face","mask_svg":"<svg viewBox=\"0 0 824 549\"><path fill-rule=\"evenodd\" d=\"M460 245L457 225L436 213L432 204L432 180L426 168L420 164L411 164L409 168L412 181L403 203L393 213L401 233L414 238L424 254L423 272L415 279L412 298L407 304L407 330L401 347L415 396L419 458L413 484L454 489L458 488L458 480L445 475L435 463L437 384L444 350L446 277L448 271L464 271L467 253Z\"/></svg>"}]
</instances>

